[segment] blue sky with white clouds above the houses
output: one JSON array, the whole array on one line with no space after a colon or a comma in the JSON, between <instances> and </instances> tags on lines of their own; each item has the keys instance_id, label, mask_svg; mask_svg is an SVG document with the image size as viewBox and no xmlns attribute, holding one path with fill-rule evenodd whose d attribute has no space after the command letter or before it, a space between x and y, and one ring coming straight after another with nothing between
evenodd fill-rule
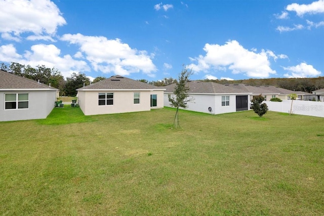
<instances>
[{"instance_id":1,"label":"blue sky with white clouds above the houses","mask_svg":"<svg viewBox=\"0 0 324 216\"><path fill-rule=\"evenodd\" d=\"M0 62L67 77L324 76L324 0L0 0ZM6 9L6 10L4 10Z\"/></svg>"}]
</instances>

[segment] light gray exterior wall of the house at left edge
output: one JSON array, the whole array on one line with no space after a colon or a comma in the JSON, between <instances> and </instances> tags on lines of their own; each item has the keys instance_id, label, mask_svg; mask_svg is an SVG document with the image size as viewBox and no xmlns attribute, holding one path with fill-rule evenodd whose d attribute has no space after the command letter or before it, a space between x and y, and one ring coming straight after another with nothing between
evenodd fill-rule
<instances>
[{"instance_id":1,"label":"light gray exterior wall of the house at left edge","mask_svg":"<svg viewBox=\"0 0 324 216\"><path fill-rule=\"evenodd\" d=\"M28 93L28 109L5 110L5 93ZM6 91L0 92L0 121L46 118L55 106L56 91Z\"/></svg>"}]
</instances>

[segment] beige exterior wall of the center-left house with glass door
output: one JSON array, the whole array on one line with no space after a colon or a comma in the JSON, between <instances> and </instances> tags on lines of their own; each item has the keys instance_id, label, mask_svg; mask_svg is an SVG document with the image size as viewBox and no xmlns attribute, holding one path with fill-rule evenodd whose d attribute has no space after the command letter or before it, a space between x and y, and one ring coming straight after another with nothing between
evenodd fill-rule
<instances>
[{"instance_id":1,"label":"beige exterior wall of the center-left house with glass door","mask_svg":"<svg viewBox=\"0 0 324 216\"><path fill-rule=\"evenodd\" d=\"M140 93L140 103L134 104L134 93ZM150 95L157 95L157 106L163 104L163 91L78 91L79 106L85 115L139 112L150 110ZM98 105L99 93L113 93L113 105ZM163 98L161 98L163 99Z\"/></svg>"}]
</instances>

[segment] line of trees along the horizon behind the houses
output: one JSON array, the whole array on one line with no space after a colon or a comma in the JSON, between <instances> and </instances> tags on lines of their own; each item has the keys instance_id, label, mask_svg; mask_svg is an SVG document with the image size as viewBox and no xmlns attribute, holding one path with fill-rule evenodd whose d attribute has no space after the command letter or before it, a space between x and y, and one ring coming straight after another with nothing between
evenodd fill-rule
<instances>
[{"instance_id":1,"label":"line of trees along the horizon behind the houses","mask_svg":"<svg viewBox=\"0 0 324 216\"><path fill-rule=\"evenodd\" d=\"M0 64L0 69L23 76L35 81L42 82L51 87L60 90L60 96L75 96L76 89L83 87L83 85L89 85L90 79L86 77L84 73L73 72L69 77L64 79L62 73L56 68L48 68L45 65L37 65L36 67L31 67L30 65L22 65L16 62L12 62L10 65L5 63ZM106 79L106 77L98 76L92 83ZM177 79L172 77L166 77L157 81L148 81L146 79L139 79L139 81L152 84L155 86L166 86L172 83L177 83ZM213 81L220 84L234 84L234 83L244 83L248 85L258 86L258 85L273 85L275 87L288 89L292 91L302 91L311 93L312 91L318 89L324 89L324 76L314 77L314 78L266 78L266 79L241 79L241 80L226 80L226 79L216 79L216 80L200 80L200 81Z\"/></svg>"}]
</instances>

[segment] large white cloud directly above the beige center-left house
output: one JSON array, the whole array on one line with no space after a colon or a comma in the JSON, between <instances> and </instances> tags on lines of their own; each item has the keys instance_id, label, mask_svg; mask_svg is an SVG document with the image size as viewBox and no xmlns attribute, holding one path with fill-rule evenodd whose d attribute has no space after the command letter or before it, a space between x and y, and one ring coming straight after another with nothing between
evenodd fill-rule
<instances>
[{"instance_id":1,"label":"large white cloud directly above the beige center-left house","mask_svg":"<svg viewBox=\"0 0 324 216\"><path fill-rule=\"evenodd\" d=\"M120 39L107 39L103 36L85 36L83 34L64 34L61 40L79 46L79 51L91 62L95 71L114 72L129 75L142 71L154 77L156 67L152 62L154 55L138 51L124 44Z\"/></svg>"}]
</instances>

